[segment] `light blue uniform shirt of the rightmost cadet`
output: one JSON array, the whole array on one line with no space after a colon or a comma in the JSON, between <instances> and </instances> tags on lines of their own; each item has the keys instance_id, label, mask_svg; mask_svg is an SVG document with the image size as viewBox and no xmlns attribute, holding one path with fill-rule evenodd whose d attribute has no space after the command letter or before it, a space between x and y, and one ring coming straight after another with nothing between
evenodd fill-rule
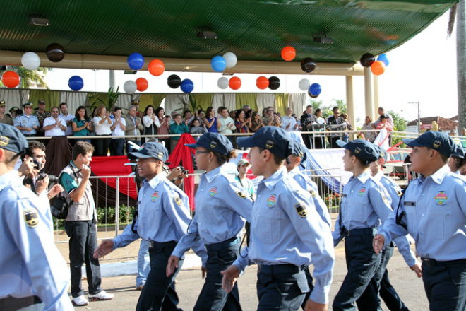
<instances>
[{"instance_id":1,"label":"light blue uniform shirt of the rightmost cadet","mask_svg":"<svg viewBox=\"0 0 466 311\"><path fill-rule=\"evenodd\" d=\"M447 165L429 177L412 180L405 190L396 224L396 211L379 230L390 243L410 233L416 240L417 255L449 261L466 259L466 180L450 172Z\"/></svg>"}]
</instances>

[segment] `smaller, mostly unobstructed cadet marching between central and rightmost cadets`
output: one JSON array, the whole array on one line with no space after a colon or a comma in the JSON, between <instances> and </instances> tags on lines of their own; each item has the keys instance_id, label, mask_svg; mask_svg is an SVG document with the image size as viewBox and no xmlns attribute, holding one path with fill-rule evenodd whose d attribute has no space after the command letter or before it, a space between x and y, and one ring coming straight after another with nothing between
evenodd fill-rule
<instances>
[{"instance_id":1,"label":"smaller, mostly unobstructed cadet marching between central and rightmost cadets","mask_svg":"<svg viewBox=\"0 0 466 311\"><path fill-rule=\"evenodd\" d=\"M340 291L333 300L335 311L355 310L354 303L361 297L381 261L381 256L372 250L371 241L381 221L385 221L392 212L390 199L369 170L369 164L377 160L379 155L374 144L362 139L349 143L338 140L337 144L345 148L344 168L353 175L343 188L340 213L333 231L335 246L346 237L348 269ZM370 301L377 300L377 297L372 297Z\"/></svg>"}]
</instances>

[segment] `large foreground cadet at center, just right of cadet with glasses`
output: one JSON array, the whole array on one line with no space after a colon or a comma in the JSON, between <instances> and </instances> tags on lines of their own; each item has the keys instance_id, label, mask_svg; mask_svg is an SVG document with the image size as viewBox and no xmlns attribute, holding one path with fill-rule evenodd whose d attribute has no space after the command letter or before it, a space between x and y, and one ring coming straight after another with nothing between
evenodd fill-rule
<instances>
[{"instance_id":1,"label":"large foreground cadet at center, just right of cadet with glasses","mask_svg":"<svg viewBox=\"0 0 466 311\"><path fill-rule=\"evenodd\" d=\"M284 168L291 136L279 127L263 127L237 143L251 148L248 158L258 184L251 216L251 242L226 271L222 286L230 291L246 264L259 264L257 310L298 310L309 292L304 265L312 263L316 284L304 310L327 310L335 254L327 223L317 215L311 194Z\"/></svg>"}]
</instances>

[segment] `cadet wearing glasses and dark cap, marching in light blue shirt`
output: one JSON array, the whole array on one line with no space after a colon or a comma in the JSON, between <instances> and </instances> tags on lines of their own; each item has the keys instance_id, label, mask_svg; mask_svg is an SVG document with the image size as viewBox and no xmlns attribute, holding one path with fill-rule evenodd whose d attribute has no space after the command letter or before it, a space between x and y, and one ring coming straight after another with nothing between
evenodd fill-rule
<instances>
[{"instance_id":1,"label":"cadet wearing glasses and dark cap, marching in light blue shirt","mask_svg":"<svg viewBox=\"0 0 466 311\"><path fill-rule=\"evenodd\" d=\"M241 310L237 286L231 295L223 291L220 271L237 259L244 219L251 221L252 199L227 172L225 163L236 157L227 136L205 133L186 146L196 148L194 160L205 173L196 192L196 214L169 259L167 274L193 242L201 239L208 253L207 277L193 310Z\"/></svg>"}]
</instances>

